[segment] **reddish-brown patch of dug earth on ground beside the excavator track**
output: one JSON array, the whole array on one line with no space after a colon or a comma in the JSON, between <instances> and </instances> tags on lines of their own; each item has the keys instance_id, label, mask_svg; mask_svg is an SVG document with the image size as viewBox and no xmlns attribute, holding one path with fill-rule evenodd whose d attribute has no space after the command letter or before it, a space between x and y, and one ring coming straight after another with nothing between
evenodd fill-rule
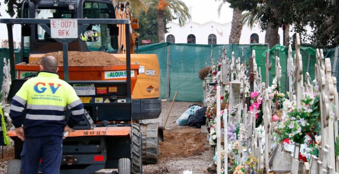
<instances>
[{"instance_id":1,"label":"reddish-brown patch of dug earth on ground beside the excavator track","mask_svg":"<svg viewBox=\"0 0 339 174\"><path fill-rule=\"evenodd\" d=\"M200 129L193 127L164 130L164 142L159 142L159 159L201 155L204 150L208 150L204 143L206 137Z\"/></svg>"}]
</instances>

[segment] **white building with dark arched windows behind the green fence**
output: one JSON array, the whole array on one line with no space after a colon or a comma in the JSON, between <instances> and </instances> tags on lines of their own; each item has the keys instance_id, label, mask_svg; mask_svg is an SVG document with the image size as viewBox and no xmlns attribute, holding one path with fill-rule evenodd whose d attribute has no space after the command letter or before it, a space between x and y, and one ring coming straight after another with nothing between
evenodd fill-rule
<instances>
[{"instance_id":1,"label":"white building with dark arched windows behind the green fence","mask_svg":"<svg viewBox=\"0 0 339 174\"><path fill-rule=\"evenodd\" d=\"M220 24L215 21L209 21L205 24L199 24L189 21L183 27L177 23L168 23L166 25L168 33L165 34L165 40L176 44L229 44L231 33L231 22ZM283 44L283 29L278 31L279 44ZM250 39L256 43L265 43L265 31L261 32L259 25L255 24L251 29L247 24L243 25L239 44L250 44Z\"/></svg>"}]
</instances>

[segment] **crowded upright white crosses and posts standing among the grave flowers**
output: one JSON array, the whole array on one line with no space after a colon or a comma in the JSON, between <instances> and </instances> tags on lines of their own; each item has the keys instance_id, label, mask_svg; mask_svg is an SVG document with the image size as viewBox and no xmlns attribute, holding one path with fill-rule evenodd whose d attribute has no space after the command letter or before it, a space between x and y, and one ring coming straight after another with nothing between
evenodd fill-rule
<instances>
[{"instance_id":1,"label":"crowded upright white crosses and posts standing among the grave flowers","mask_svg":"<svg viewBox=\"0 0 339 174\"><path fill-rule=\"evenodd\" d=\"M299 168L299 148L300 144L295 145L294 154L291 155L284 150L283 146L278 144L275 146L273 151L271 150L272 143L272 126L271 126L271 117L272 117L272 101L269 98L268 85L265 85L264 82L261 82L261 72L260 67L257 67L255 60L255 52L252 52L252 57L250 57L250 74L249 78L245 75L246 66L244 63L240 62L240 58L235 58L234 52L232 52L231 59L227 58L225 49L222 50L221 56L221 73L218 78L217 86L217 99L220 98L221 89L230 82L229 92L229 108L232 108L232 100L238 101L238 103L233 103L237 107L237 113L235 117L230 117L228 110L224 110L223 114L223 124L224 129L221 130L221 114L220 114L220 100L217 100L217 117L216 117L216 128L217 128L217 157L220 157L221 149L221 136L224 139L224 149L227 149L228 137L227 137L227 125L229 121L236 121L240 123L241 126L246 127L246 137L242 137L242 129L240 129L240 144L246 144L246 148L242 149L242 145L239 146L240 155L242 152L245 152L247 155L255 157L257 159L257 168L260 171L268 172L291 172L291 173L337 173L339 172L339 157L335 156L335 140L338 136L338 93L336 91L336 78L331 75L331 62L329 58L324 58L322 50L316 50L316 64L315 64L315 83L310 82L309 73L305 73L305 83L303 77L303 61L300 54L300 43L299 35L296 35L296 44L295 44L295 55L292 57L292 48L291 46L288 49L288 58L287 58L287 74L288 74L288 92L290 101L295 103L297 106L300 105L302 100L302 95L305 92L313 94L317 92L319 94L319 107L321 110L321 115L319 121L321 122L321 149L319 150L319 156L311 156L309 162L305 162L303 168ZM281 66L279 57L275 57L275 75L277 81L281 79ZM266 55L266 77L267 84L268 77L270 75L271 62L269 54ZM238 97L234 97L232 94L231 85L239 85L240 83L240 92ZM316 91L316 86L318 90ZM250 88L251 92L258 91L262 96L262 113L263 113L263 125L265 130L265 146L262 147L261 140L262 136L258 132L258 129L255 127L255 111L248 111L248 103L246 102L246 90ZM231 97L232 96L232 97ZM242 119L241 119L242 111ZM232 120L233 119L233 120ZM219 129L219 130L218 130ZM225 150L227 153L227 150ZM225 165L228 164L227 154L224 155ZM291 163L287 163L290 166L283 166L283 161L290 160ZM221 159L217 159L217 164L221 165ZM286 163L284 163L286 164ZM227 168L227 167L225 167ZM218 171L219 167L218 167Z\"/></svg>"}]
</instances>

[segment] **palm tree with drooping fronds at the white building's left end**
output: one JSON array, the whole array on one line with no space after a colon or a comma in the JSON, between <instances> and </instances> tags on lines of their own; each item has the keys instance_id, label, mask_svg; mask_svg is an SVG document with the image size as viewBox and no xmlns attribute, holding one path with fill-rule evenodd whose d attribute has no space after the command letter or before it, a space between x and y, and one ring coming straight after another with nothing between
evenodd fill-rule
<instances>
[{"instance_id":1,"label":"palm tree with drooping fronds at the white building's left end","mask_svg":"<svg viewBox=\"0 0 339 174\"><path fill-rule=\"evenodd\" d=\"M165 41L164 16L170 20L178 19L179 25L183 26L187 19L191 18L189 8L180 0L150 0L153 6L158 10L158 38L159 42Z\"/></svg>"}]
</instances>

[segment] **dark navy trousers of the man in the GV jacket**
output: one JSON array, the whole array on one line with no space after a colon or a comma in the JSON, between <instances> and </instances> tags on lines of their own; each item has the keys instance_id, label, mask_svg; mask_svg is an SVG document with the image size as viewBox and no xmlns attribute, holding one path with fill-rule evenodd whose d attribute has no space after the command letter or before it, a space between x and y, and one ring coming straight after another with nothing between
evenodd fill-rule
<instances>
[{"instance_id":1,"label":"dark navy trousers of the man in the GV jacket","mask_svg":"<svg viewBox=\"0 0 339 174\"><path fill-rule=\"evenodd\" d=\"M62 157L62 137L25 137L22 158L23 174L36 174L42 159L42 172L55 174L60 171Z\"/></svg>"}]
</instances>

